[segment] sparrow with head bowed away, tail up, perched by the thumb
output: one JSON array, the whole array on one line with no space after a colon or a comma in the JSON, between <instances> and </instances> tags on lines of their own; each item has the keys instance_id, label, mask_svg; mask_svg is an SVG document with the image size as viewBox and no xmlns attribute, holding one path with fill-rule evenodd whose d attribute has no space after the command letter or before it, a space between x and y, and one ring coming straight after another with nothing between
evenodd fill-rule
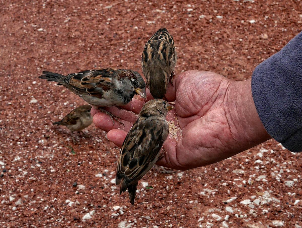
<instances>
[{"instance_id":1,"label":"sparrow with head bowed away, tail up, perched by the thumb","mask_svg":"<svg viewBox=\"0 0 302 228\"><path fill-rule=\"evenodd\" d=\"M146 43L142 54L142 70L147 87L154 98L163 98L176 65L177 54L172 35L159 29Z\"/></svg>"}]
</instances>

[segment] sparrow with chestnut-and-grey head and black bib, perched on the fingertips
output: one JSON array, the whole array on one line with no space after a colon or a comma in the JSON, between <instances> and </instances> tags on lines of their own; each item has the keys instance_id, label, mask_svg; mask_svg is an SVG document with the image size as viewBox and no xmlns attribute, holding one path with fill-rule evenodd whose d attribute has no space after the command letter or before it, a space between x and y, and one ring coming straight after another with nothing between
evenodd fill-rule
<instances>
[{"instance_id":1,"label":"sparrow with chestnut-and-grey head and black bib, perched on the fingertips","mask_svg":"<svg viewBox=\"0 0 302 228\"><path fill-rule=\"evenodd\" d=\"M113 119L120 122L117 119L119 117L101 107L125 105L135 94L146 98L146 83L142 76L133 70L105 68L70 73L67 76L43 71L39 78L65 86L88 104L108 114L113 123Z\"/></svg>"}]
</instances>

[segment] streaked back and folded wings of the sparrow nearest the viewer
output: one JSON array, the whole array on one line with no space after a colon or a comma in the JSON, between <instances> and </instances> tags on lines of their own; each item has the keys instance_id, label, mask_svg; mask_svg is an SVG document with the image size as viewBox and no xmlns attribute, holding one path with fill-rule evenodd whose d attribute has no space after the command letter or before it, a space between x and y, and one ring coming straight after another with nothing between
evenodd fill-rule
<instances>
[{"instance_id":1,"label":"streaked back and folded wings of the sparrow nearest the viewer","mask_svg":"<svg viewBox=\"0 0 302 228\"><path fill-rule=\"evenodd\" d=\"M165 119L139 117L120 150L116 184L123 179L121 188L125 188L142 178L155 164L168 134L169 125Z\"/></svg>"}]
</instances>

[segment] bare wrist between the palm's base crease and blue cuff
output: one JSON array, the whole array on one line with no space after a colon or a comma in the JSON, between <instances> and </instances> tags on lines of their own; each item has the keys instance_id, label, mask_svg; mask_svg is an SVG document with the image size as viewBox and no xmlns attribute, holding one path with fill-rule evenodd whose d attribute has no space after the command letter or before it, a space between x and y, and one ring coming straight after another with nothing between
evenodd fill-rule
<instances>
[{"instance_id":1,"label":"bare wrist between the palm's base crease and blue cuff","mask_svg":"<svg viewBox=\"0 0 302 228\"><path fill-rule=\"evenodd\" d=\"M230 132L241 151L258 145L271 136L266 132L252 97L251 79L232 81L226 94Z\"/></svg>"}]
</instances>

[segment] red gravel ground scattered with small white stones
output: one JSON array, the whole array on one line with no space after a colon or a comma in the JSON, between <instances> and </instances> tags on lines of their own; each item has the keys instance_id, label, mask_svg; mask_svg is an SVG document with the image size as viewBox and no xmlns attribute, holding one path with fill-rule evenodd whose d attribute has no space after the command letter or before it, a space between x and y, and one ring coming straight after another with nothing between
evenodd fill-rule
<instances>
[{"instance_id":1,"label":"red gravel ground scattered with small white stones","mask_svg":"<svg viewBox=\"0 0 302 228\"><path fill-rule=\"evenodd\" d=\"M300 1L213 2L2 1L0 227L302 226L302 155L273 140L203 168L154 168L131 206L114 184L119 149L105 133L91 125L75 144L51 124L84 101L38 79L42 70L141 73L146 40L165 27L176 74L243 80L301 30Z\"/></svg>"}]
</instances>

